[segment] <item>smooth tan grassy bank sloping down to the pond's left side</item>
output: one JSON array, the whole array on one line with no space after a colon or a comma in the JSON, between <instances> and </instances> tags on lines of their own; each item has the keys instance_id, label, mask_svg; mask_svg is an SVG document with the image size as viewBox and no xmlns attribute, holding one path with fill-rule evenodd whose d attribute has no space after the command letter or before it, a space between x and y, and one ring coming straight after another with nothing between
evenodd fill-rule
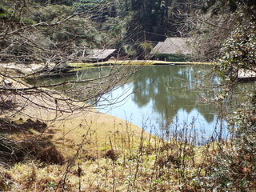
<instances>
[{"instance_id":1,"label":"smooth tan grassy bank sloping down to the pond's left side","mask_svg":"<svg viewBox=\"0 0 256 192\"><path fill-rule=\"evenodd\" d=\"M14 75L15 72L11 73ZM3 77L0 77L0 82L2 79ZM10 88L14 90L22 91L30 87L22 80L14 81L9 78L8 81L12 82ZM13 122L17 128L7 131L8 137L18 142L33 137L41 141L53 142L66 158L74 155L78 149L77 146L81 143L88 144L87 140L92 144L90 148L93 148L95 142L98 147L105 147L109 138L116 132L123 137L134 134L138 138L142 132L138 126L120 118L102 114L84 102L74 102L75 106L72 106L74 108L72 110L73 108L69 106L69 98L61 93L48 95L42 89L42 93L33 94L32 92L26 97L17 94L14 97L15 102L18 102L10 102L8 93L2 96L3 102L10 102L9 106L3 110L4 113L0 114L1 119L8 117L2 126L6 126L7 129L7 126ZM54 98L62 100L56 103ZM42 123L46 125L41 127Z\"/></svg>"}]
</instances>

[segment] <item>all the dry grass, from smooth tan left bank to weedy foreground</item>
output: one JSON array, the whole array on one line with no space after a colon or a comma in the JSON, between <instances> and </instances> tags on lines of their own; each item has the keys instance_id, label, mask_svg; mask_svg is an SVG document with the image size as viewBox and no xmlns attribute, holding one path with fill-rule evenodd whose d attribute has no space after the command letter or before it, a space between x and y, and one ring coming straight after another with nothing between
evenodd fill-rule
<instances>
[{"instance_id":1,"label":"all the dry grass, from smooth tan left bank to weedy foreground","mask_svg":"<svg viewBox=\"0 0 256 192\"><path fill-rule=\"evenodd\" d=\"M53 105L40 97L31 99ZM21 105L22 99L18 100ZM31 104L22 112L30 114L30 123L16 114L17 125L27 123L30 131L14 133L10 138L38 138L50 144L35 150L38 158L34 160L24 158L14 166L2 166L1 190L197 191L200 187L194 178L202 163L194 161L198 155L194 146L154 138L124 120L93 109L56 114ZM36 119L55 121L47 122L40 132L31 129L37 125Z\"/></svg>"}]
</instances>

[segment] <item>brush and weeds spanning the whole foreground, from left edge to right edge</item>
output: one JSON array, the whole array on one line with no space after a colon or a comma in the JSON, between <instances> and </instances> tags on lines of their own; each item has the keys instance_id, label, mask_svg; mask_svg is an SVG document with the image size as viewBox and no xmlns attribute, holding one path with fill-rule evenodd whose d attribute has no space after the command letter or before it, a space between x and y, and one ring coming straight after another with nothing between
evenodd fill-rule
<instances>
[{"instance_id":1,"label":"brush and weeds spanning the whole foreground, from left edge to right edge","mask_svg":"<svg viewBox=\"0 0 256 192\"><path fill-rule=\"evenodd\" d=\"M255 191L255 122L251 114L235 119L241 123L231 126L229 140L216 135L201 145L194 122L173 123L158 137L134 134L129 123L118 130L114 122L105 142L89 129L69 148L55 145L43 122L0 119L0 136L26 138L0 139L0 191Z\"/></svg>"}]
</instances>

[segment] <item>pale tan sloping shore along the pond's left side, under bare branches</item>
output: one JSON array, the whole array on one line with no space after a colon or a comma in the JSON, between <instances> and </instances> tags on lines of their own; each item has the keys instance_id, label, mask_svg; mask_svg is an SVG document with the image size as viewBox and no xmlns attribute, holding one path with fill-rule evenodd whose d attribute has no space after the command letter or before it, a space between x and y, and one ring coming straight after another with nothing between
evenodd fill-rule
<instances>
[{"instance_id":1,"label":"pale tan sloping shore along the pond's left side, under bare branches","mask_svg":"<svg viewBox=\"0 0 256 192\"><path fill-rule=\"evenodd\" d=\"M1 64L0 64L1 66ZM3 72L10 73L12 76L17 73L15 70L15 64L6 64L6 66L11 66L10 68L4 68ZM42 67L37 65L38 67ZM30 72L31 67L23 71ZM34 69L35 70L35 69ZM18 74L20 75L20 74ZM0 80L1 77L0 76ZM12 82L12 87L14 89L23 89L27 85L21 79L16 79L12 77L10 82ZM2 82L2 80L1 80ZM68 98L66 95L51 95L55 98ZM29 98L29 100L26 100ZM94 109L94 107L87 106L86 103L74 102L71 105L74 106L74 111L68 110L70 105L66 101L58 102L58 105L54 102L54 98L46 97L45 94L30 94L28 96L22 97L21 95L15 95L15 101L18 101L17 107L14 111L7 111L8 114L12 116L12 121L19 124L26 124L28 121L32 120L34 122L46 122L47 128L43 132L38 132L33 130L34 127L27 127L32 129L30 134L16 133L11 135L14 140L22 141L30 137L39 137L40 140L46 140L50 138L50 142L62 151L66 157L72 157L78 150L78 146L85 142L85 139L90 140L90 150L95 150L95 148L101 148L106 146L106 143L110 142L110 138L122 137L127 138L129 135L134 135L136 138L140 138L142 132L144 132L140 127L126 122L121 118L111 116L109 114L103 114ZM29 102L28 102L29 101ZM38 103L42 107L38 107L35 103ZM54 109L59 110L54 110ZM80 109L81 108L81 109ZM15 112L18 110L18 112ZM12 115L14 114L14 115ZM1 118L5 118L7 113L5 111L0 114ZM7 115L10 117L10 115ZM117 136L118 135L118 136ZM145 136L150 134L144 133ZM46 137L47 136L47 137ZM97 145L95 146L95 143ZM110 144L107 144L110 145Z\"/></svg>"}]
</instances>

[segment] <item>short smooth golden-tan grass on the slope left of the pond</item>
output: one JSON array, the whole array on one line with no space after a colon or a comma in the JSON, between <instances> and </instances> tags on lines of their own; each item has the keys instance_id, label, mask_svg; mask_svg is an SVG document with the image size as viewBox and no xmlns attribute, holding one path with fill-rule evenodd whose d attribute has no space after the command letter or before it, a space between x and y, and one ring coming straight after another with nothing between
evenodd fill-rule
<instances>
[{"instance_id":1,"label":"short smooth golden-tan grass on the slope left of the pond","mask_svg":"<svg viewBox=\"0 0 256 192\"><path fill-rule=\"evenodd\" d=\"M42 102L38 101L38 98L34 98L34 102L35 100L38 103ZM45 105L50 104L50 102L43 102ZM21 103L19 105L24 106ZM26 117L23 113L30 114L30 117ZM22 119L22 121L19 119ZM24 126L26 126L26 129L30 129L29 122L40 122L38 119L46 122L47 128L44 126L44 129L40 130L37 128L38 125L32 125L35 128L30 131L30 134L16 131L9 137L16 141L26 140L28 137L35 136L39 137L40 140L50 139L50 142L53 142L66 157L74 155L81 143L90 144L90 148L94 147L95 142L98 143L98 146L104 146L114 133L120 133L123 137L128 134L134 134L139 137L142 131L138 126L134 125L129 125L129 128L127 128L126 121L108 114L99 113L94 109L77 110L72 114L56 113L46 108L39 109L31 104L22 110L22 114L15 114L13 120L18 122L20 130ZM40 124L39 126L42 125Z\"/></svg>"}]
</instances>

